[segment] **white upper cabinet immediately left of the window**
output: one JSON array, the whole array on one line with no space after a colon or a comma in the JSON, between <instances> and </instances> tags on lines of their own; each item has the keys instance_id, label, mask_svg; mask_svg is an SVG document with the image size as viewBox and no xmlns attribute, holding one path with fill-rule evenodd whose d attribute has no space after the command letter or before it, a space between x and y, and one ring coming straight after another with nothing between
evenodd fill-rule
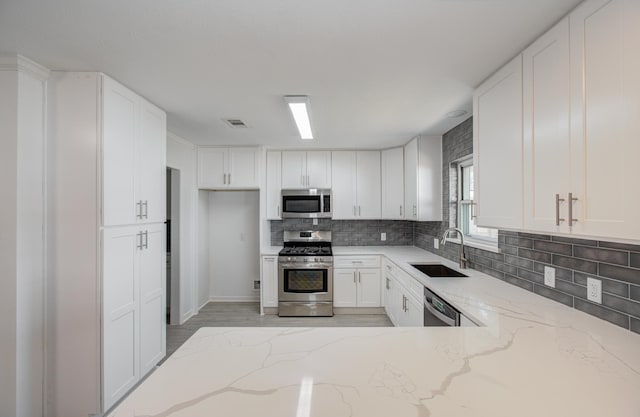
<instances>
[{"instance_id":1,"label":"white upper cabinet immediately left of the window","mask_svg":"<svg viewBox=\"0 0 640 417\"><path fill-rule=\"evenodd\" d=\"M418 136L404 147L404 218L442 220L440 136Z\"/></svg>"}]
</instances>

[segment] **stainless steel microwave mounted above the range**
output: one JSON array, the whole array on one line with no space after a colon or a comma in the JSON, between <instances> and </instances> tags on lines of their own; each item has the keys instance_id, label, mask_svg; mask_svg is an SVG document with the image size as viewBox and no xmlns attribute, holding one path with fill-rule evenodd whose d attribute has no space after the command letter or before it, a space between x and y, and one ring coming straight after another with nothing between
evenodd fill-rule
<instances>
[{"instance_id":1,"label":"stainless steel microwave mounted above the range","mask_svg":"<svg viewBox=\"0 0 640 417\"><path fill-rule=\"evenodd\" d=\"M331 218L331 190L282 190L283 218Z\"/></svg>"}]
</instances>

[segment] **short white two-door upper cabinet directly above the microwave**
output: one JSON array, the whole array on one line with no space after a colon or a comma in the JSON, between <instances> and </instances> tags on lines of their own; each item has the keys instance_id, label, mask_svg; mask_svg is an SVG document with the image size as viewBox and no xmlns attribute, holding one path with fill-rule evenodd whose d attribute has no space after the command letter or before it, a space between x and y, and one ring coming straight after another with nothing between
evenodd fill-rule
<instances>
[{"instance_id":1,"label":"short white two-door upper cabinet directly above the microwave","mask_svg":"<svg viewBox=\"0 0 640 417\"><path fill-rule=\"evenodd\" d=\"M283 151L282 188L331 188L331 152Z\"/></svg>"}]
</instances>

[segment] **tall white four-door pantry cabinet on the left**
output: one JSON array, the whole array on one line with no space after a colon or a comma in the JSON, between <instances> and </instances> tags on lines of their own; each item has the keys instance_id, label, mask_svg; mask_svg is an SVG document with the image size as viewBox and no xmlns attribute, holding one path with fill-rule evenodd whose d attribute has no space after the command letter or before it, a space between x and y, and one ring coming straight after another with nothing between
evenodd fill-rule
<instances>
[{"instance_id":1,"label":"tall white four-door pantry cabinet on the left","mask_svg":"<svg viewBox=\"0 0 640 417\"><path fill-rule=\"evenodd\" d=\"M102 415L165 355L166 114L88 72L48 106L47 415Z\"/></svg>"}]
</instances>

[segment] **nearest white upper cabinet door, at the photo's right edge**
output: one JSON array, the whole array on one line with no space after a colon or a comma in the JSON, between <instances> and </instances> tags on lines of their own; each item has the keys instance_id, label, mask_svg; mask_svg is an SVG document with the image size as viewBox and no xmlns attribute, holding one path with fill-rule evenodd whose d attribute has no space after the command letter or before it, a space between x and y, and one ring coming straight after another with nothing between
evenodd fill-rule
<instances>
[{"instance_id":1,"label":"nearest white upper cabinet door, at the photo's right edge","mask_svg":"<svg viewBox=\"0 0 640 417\"><path fill-rule=\"evenodd\" d=\"M572 233L640 236L640 2L589 0L569 16ZM573 222L571 221L573 218ZM572 223L572 224L571 224Z\"/></svg>"}]
</instances>

